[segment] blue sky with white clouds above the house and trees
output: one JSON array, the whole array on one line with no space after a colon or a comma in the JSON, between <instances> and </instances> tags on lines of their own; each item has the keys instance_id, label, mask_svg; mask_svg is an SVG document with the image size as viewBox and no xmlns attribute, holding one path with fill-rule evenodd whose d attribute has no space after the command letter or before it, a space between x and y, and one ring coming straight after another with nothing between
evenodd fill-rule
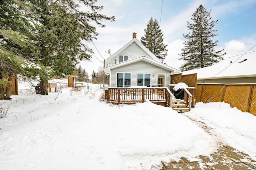
<instances>
[{"instance_id":1,"label":"blue sky with white clouds above the house and trees","mask_svg":"<svg viewBox=\"0 0 256 170\"><path fill-rule=\"evenodd\" d=\"M163 3L163 5L162 5ZM168 56L164 63L179 68L183 61L178 60L188 33L187 21L191 21L193 12L202 4L208 11L212 10L212 20L218 20L218 40L216 50L225 49L226 57L247 52L256 45L256 0L98 0L96 5L104 6L102 14L115 16L116 21L104 22L106 27L97 27L100 35L93 44L87 43L94 55L101 61L109 57L108 49L113 54L132 39L144 36L144 29L150 17L158 20L164 34L164 43L168 44ZM161 16L162 6L162 16ZM160 22L161 20L161 22ZM251 51L256 51L254 47ZM82 62L89 74L98 71L102 63L92 56L91 62ZM102 56L102 57L101 57Z\"/></svg>"}]
</instances>

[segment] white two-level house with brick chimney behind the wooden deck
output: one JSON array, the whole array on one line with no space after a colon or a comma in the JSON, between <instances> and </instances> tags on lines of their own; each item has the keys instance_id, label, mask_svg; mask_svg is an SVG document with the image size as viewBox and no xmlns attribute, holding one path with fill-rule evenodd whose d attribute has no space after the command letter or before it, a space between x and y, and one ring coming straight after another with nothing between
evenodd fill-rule
<instances>
[{"instance_id":1,"label":"white two-level house with brick chimney behind the wooden deck","mask_svg":"<svg viewBox=\"0 0 256 170\"><path fill-rule=\"evenodd\" d=\"M170 84L170 75L180 72L161 61L136 39L133 33L132 40L108 57L110 66L103 68L110 74L110 87L167 87Z\"/></svg>"}]
</instances>

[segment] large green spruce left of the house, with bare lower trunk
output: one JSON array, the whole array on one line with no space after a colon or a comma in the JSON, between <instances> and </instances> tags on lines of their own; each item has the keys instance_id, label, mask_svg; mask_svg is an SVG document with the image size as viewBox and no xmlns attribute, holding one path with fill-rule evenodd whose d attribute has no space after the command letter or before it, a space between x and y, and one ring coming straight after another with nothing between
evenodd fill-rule
<instances>
[{"instance_id":1,"label":"large green spruce left of the house, with bare lower trunk","mask_svg":"<svg viewBox=\"0 0 256 170\"><path fill-rule=\"evenodd\" d=\"M72 74L78 60L90 59L92 49L82 41L91 42L98 33L92 23L104 27L103 20L114 21L98 13L103 6L96 6L95 0L80 0L90 10L80 11L76 0L30 0L38 6L42 25L38 28L37 59L50 66L57 76ZM40 77L40 94L48 94L48 78Z\"/></svg>"}]
</instances>

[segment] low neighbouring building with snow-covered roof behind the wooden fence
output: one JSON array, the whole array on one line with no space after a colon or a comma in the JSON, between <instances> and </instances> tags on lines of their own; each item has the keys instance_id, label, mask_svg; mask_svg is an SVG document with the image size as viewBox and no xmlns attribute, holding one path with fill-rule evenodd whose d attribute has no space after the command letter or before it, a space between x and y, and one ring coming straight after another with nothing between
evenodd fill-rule
<instances>
[{"instance_id":1,"label":"low neighbouring building with snow-covered roof behind the wooden fence","mask_svg":"<svg viewBox=\"0 0 256 170\"><path fill-rule=\"evenodd\" d=\"M182 74L197 73L198 83L256 83L256 51L224 60L212 66L188 70Z\"/></svg>"}]
</instances>

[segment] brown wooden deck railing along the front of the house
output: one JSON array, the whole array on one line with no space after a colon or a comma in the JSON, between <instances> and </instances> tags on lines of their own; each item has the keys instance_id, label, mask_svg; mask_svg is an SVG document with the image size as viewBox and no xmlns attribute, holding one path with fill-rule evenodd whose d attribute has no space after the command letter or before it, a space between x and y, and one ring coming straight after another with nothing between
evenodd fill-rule
<instances>
[{"instance_id":1,"label":"brown wooden deck railing along the front of the house","mask_svg":"<svg viewBox=\"0 0 256 170\"><path fill-rule=\"evenodd\" d=\"M171 107L173 94L167 87L128 87L108 88L105 97L113 104L132 104L149 100L153 103L164 102L164 105Z\"/></svg>"}]
</instances>

